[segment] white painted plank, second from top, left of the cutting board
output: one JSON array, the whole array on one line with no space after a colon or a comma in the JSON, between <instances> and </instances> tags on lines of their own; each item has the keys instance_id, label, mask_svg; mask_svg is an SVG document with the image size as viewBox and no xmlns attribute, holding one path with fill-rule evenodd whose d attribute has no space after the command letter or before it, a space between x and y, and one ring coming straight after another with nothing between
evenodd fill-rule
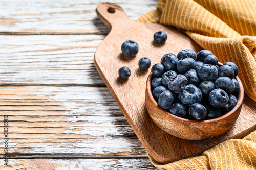
<instances>
[{"instance_id":1,"label":"white painted plank, second from top, left of the cutting board","mask_svg":"<svg viewBox=\"0 0 256 170\"><path fill-rule=\"evenodd\" d=\"M105 35L0 36L0 83L104 86L93 62L94 52L104 37Z\"/></svg>"}]
</instances>

